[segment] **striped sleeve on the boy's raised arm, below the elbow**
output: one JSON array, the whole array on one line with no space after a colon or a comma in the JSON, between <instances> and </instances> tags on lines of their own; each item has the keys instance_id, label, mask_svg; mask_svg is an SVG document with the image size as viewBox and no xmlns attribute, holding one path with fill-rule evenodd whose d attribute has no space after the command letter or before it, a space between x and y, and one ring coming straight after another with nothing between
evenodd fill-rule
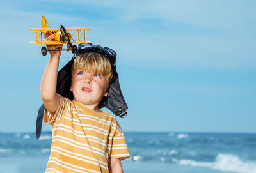
<instances>
[{"instance_id":1,"label":"striped sleeve on the boy's raised arm, below the elbow","mask_svg":"<svg viewBox=\"0 0 256 173\"><path fill-rule=\"evenodd\" d=\"M54 114L52 114L49 110L45 108L44 110L44 123L54 125L56 121L60 119L60 116L65 108L65 98L60 96L60 103L58 105L58 109Z\"/></svg>"}]
</instances>

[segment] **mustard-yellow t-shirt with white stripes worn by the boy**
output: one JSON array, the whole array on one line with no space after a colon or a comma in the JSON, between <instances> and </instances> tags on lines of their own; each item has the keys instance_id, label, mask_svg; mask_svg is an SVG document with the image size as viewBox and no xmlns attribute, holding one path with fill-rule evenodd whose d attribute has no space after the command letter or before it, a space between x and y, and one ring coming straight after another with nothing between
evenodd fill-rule
<instances>
[{"instance_id":1,"label":"mustard-yellow t-shirt with white stripes worn by the boy","mask_svg":"<svg viewBox=\"0 0 256 173\"><path fill-rule=\"evenodd\" d=\"M109 172L109 158L129 158L120 125L108 112L95 112L76 100L61 97L52 124L51 155L45 172Z\"/></svg>"}]
</instances>

